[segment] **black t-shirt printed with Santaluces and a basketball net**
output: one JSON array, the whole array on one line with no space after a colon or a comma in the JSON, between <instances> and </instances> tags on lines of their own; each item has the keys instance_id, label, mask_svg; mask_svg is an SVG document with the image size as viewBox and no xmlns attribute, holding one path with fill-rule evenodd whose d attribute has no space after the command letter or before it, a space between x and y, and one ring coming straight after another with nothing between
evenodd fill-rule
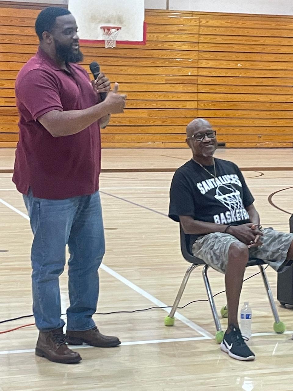
<instances>
[{"instance_id":1,"label":"black t-shirt printed with Santaluces and a basketball net","mask_svg":"<svg viewBox=\"0 0 293 391\"><path fill-rule=\"evenodd\" d=\"M176 170L170 188L169 217L179 216L216 224L239 225L250 222L247 206L254 202L243 175L231 161L214 159L216 178L194 160ZM214 166L204 166L214 174ZM202 235L189 235L190 247Z\"/></svg>"}]
</instances>

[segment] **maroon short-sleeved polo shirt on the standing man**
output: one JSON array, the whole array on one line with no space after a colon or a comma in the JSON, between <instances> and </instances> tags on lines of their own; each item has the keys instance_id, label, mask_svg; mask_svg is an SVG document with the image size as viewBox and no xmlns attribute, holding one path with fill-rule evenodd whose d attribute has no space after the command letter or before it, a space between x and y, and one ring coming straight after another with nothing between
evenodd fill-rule
<instances>
[{"instance_id":1,"label":"maroon short-sleeved polo shirt on the standing man","mask_svg":"<svg viewBox=\"0 0 293 391\"><path fill-rule=\"evenodd\" d=\"M86 70L71 63L68 69L60 69L39 49L17 76L20 139L13 182L22 194L30 187L34 197L66 199L93 194L99 188L98 122L75 135L55 138L38 122L49 111L81 110L98 102Z\"/></svg>"}]
</instances>

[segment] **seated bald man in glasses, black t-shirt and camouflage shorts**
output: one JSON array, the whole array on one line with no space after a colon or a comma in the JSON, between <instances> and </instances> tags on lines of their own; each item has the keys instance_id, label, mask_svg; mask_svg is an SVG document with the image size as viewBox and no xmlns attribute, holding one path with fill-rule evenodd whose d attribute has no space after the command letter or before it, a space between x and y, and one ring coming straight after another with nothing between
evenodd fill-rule
<instances>
[{"instance_id":1,"label":"seated bald man in glasses, black t-shirt and camouflage shorts","mask_svg":"<svg viewBox=\"0 0 293 391\"><path fill-rule=\"evenodd\" d=\"M189 235L193 255L225 273L228 328L221 349L234 359L254 360L237 319L245 267L252 257L284 270L293 259L293 234L262 230L239 168L213 158L217 140L209 122L195 119L186 133L193 157L173 176L169 217Z\"/></svg>"}]
</instances>

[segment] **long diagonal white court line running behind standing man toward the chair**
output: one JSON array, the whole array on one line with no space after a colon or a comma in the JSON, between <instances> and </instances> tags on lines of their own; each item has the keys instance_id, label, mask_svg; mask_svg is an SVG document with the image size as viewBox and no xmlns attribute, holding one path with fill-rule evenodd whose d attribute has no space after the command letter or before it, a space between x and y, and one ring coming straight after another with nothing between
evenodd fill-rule
<instances>
[{"instance_id":1,"label":"long diagonal white court line running behind standing man toward the chair","mask_svg":"<svg viewBox=\"0 0 293 391\"><path fill-rule=\"evenodd\" d=\"M12 206L11 204L7 203L2 198L0 198L0 203L4 204L5 206L7 206L7 208L9 208L9 209L13 210L14 212L18 213L19 215L21 215L22 217L24 217L28 221L30 220L28 215L26 215L25 213L21 212L17 208L14 208L14 206ZM131 281L127 280L127 278L121 276L121 274L117 273L116 271L114 271L110 267L108 267L108 266L106 266L104 264L101 264L100 268L102 270L104 270L106 273L108 273L111 276L113 276L114 278L116 278L117 280L119 280L120 282L124 283L125 285L127 285L128 287L133 289L134 291L138 292L141 296L145 297L147 300L151 301L152 303L154 303L158 307L167 307L167 304L163 303L163 301L158 300L157 298L155 298L155 296L152 296L147 291L144 291L138 285L135 285ZM170 312L170 308L169 309L168 308L162 308L162 309L164 311L168 312L168 313ZM213 335L211 333L209 333L204 328L198 326L196 323L194 323L193 321L191 321L190 319L188 319L184 315L180 314L179 312L176 311L175 314L174 314L174 317L176 319L180 320L186 326L188 326L188 327L192 328L193 330L195 330L196 332L198 332L198 334L203 335L207 339L213 339Z\"/></svg>"}]
</instances>

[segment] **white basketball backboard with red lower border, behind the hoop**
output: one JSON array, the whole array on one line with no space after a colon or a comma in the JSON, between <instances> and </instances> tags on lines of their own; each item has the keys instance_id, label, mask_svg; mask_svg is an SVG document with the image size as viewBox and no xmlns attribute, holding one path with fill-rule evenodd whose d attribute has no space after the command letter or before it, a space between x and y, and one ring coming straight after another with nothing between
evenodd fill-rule
<instances>
[{"instance_id":1,"label":"white basketball backboard with red lower border, behind the hoop","mask_svg":"<svg viewBox=\"0 0 293 391\"><path fill-rule=\"evenodd\" d=\"M104 42L102 26L121 27L117 43L145 44L144 0L69 0L83 42Z\"/></svg>"}]
</instances>

